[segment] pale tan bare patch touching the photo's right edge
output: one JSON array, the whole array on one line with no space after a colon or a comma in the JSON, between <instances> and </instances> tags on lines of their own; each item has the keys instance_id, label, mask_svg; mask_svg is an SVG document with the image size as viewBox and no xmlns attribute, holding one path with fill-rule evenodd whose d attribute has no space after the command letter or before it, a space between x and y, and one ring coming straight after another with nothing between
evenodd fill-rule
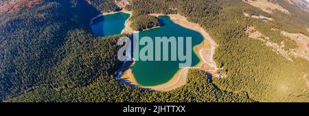
<instances>
[{"instance_id":1,"label":"pale tan bare patch touching the photo's right edge","mask_svg":"<svg viewBox=\"0 0 309 116\"><path fill-rule=\"evenodd\" d=\"M309 60L309 38L301 33L288 33L286 31L281 31L281 34L295 40L298 48L293 50L293 55L295 57L301 57Z\"/></svg>"}]
</instances>

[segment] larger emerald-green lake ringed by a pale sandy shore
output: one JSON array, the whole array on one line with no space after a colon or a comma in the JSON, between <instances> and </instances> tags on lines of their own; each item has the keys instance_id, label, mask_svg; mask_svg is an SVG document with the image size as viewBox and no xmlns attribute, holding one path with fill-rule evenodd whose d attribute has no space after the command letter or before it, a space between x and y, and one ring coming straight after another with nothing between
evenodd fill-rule
<instances>
[{"instance_id":1,"label":"larger emerald-green lake ringed by a pale sandy shore","mask_svg":"<svg viewBox=\"0 0 309 116\"><path fill-rule=\"evenodd\" d=\"M139 32L139 38L149 36L155 42L155 37L192 37L192 66L196 66L200 59L194 53L193 47L203 42L203 35L173 23L169 16L159 16L159 18L165 25L147 31L141 31ZM139 49L142 47L139 46ZM179 63L180 61L135 61L132 69L137 83L144 86L154 86L170 81L179 70Z\"/></svg>"}]
</instances>

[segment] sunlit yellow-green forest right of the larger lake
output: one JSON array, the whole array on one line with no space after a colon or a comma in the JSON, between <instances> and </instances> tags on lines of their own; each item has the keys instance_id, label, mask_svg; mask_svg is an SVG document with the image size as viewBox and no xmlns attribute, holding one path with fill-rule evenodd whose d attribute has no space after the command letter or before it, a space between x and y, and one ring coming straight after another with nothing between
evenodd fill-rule
<instances>
[{"instance_id":1,"label":"sunlit yellow-green forest right of the larger lake","mask_svg":"<svg viewBox=\"0 0 309 116\"><path fill-rule=\"evenodd\" d=\"M284 41L286 50L296 48L296 43L279 33L278 29L290 33L309 35L308 13L292 8L284 1L277 1L288 9L292 16L276 11L268 14L241 0L220 1L143 1L133 0L128 10L146 13L181 14L191 22L201 25L219 47L215 61L222 64L219 72L226 78L214 78L215 85L225 91L248 92L250 98L260 102L308 102L306 78L309 63L306 59L293 58L288 61L260 42L244 33L249 26L279 44ZM155 5L154 5L155 4ZM243 12L274 18L273 22L245 17ZM301 83L301 84L299 84ZM305 90L304 90L305 89Z\"/></svg>"}]
</instances>

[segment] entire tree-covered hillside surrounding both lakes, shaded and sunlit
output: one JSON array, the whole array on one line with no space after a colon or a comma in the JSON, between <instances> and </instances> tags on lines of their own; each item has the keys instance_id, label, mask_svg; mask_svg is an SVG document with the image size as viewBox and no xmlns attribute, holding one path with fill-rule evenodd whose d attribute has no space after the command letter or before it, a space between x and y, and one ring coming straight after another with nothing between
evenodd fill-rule
<instances>
[{"instance_id":1,"label":"entire tree-covered hillside surrounding both lakes, shaded and sunlit","mask_svg":"<svg viewBox=\"0 0 309 116\"><path fill-rule=\"evenodd\" d=\"M309 74L309 61L288 61L260 40L248 38L244 31L253 26L272 42L284 40L286 49L297 47L271 29L309 36L309 15L284 1L277 2L292 16L279 11L268 14L242 0L131 0L126 9L143 12L141 20L159 20L148 17L150 13L181 14L201 25L219 44L214 59L222 64L219 71L227 77L211 78L201 70L190 70L187 84L168 92L116 81L115 74L122 66L117 60L121 46L116 44L123 35L98 38L89 26L100 12L121 10L113 0L45 0L29 10L0 14L0 100L309 102L309 78L304 77ZM249 18L243 12L275 21Z\"/></svg>"}]
</instances>

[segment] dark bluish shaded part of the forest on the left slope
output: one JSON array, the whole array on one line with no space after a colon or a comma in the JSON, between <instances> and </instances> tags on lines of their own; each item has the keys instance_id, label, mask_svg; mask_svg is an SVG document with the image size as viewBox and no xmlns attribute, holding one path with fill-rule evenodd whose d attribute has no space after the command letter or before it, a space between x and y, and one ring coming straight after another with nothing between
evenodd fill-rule
<instances>
[{"instance_id":1,"label":"dark bluish shaded part of the forest on the left slope","mask_svg":"<svg viewBox=\"0 0 309 116\"><path fill-rule=\"evenodd\" d=\"M31 10L2 14L0 97L15 96L52 81L54 77L48 74L65 57L65 53L57 52L65 44L67 33L71 29L89 30L87 23L97 14L84 1L45 1Z\"/></svg>"}]
</instances>

